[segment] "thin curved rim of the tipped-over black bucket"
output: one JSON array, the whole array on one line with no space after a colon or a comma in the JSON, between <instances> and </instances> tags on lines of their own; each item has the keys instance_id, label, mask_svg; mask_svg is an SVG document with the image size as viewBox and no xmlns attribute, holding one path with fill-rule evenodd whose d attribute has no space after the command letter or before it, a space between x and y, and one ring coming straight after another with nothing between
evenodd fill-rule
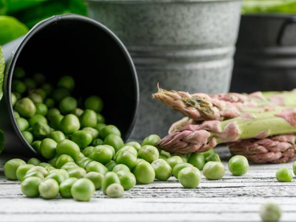
<instances>
[{"instance_id":1,"label":"thin curved rim of the tipped-over black bucket","mask_svg":"<svg viewBox=\"0 0 296 222\"><path fill-rule=\"evenodd\" d=\"M102 29L105 33L107 33L111 38L113 38L115 40L115 43L119 46L119 48L121 49L121 51L123 52L124 56L126 57L127 61L128 61L128 65L131 69L131 73L132 73L132 78L133 78L133 82L135 85L135 96L136 96L136 106L134 108L134 116L133 116L133 120L131 121L130 127L126 132L126 139L130 136L133 127L135 125L136 119L137 119L137 115L138 115L138 110L139 110L139 83L138 83L138 76L137 76L137 72L136 72L136 68L134 63L132 62L132 58L128 52L128 50L126 49L126 47L124 46L124 44L122 43L122 41L115 36L115 34L108 29L106 26L102 25L101 23L85 17L85 16L81 16L81 15L76 15L76 14L64 14L64 15L56 15L56 16L52 16L50 18L47 18L45 20L42 20L41 22L37 23L26 35L25 37L21 40L21 42L19 43L16 51L13 53L12 57L11 57L11 61L7 67L7 69L5 70L5 75L7 76L7 81L6 81L6 102L8 102L8 114L10 117L10 121L12 123L13 129L16 132L17 136L19 137L19 139L22 141L22 143L25 145L26 148L29 148L31 151L33 151L34 153L37 153L37 151L26 141L25 137L23 136L23 134L21 133L21 131L19 130L17 123L16 123L16 119L14 117L14 113L13 113L13 107L12 107L12 103L11 103L11 82L12 82L12 76L13 76L13 71L16 65L16 61L19 58L19 55L22 51L22 49L25 47L25 45L27 44L27 42L34 36L36 35L40 30L46 28L47 26L49 26L50 24L56 23L58 21L67 21L67 20L74 20L74 21L83 21L83 22L87 22L90 24L93 24L95 26L97 26L98 28Z\"/></svg>"}]
</instances>

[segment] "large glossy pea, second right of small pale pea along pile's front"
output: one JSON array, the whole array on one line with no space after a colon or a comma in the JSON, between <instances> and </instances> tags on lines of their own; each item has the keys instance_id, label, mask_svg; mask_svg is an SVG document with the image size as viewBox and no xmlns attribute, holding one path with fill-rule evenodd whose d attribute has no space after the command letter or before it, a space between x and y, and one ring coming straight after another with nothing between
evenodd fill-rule
<instances>
[{"instance_id":1,"label":"large glossy pea, second right of small pale pea along pile's front","mask_svg":"<svg viewBox=\"0 0 296 222\"><path fill-rule=\"evenodd\" d=\"M147 161L140 161L133 169L136 180L141 184L150 184L155 179L153 167Z\"/></svg>"}]
</instances>

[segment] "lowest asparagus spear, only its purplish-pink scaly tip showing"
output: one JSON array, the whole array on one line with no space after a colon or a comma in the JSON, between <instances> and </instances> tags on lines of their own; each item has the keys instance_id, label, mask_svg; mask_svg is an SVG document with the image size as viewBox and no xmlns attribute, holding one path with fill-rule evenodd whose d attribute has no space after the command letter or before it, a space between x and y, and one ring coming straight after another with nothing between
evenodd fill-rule
<instances>
[{"instance_id":1,"label":"lowest asparagus spear, only its purplish-pink scaly tip showing","mask_svg":"<svg viewBox=\"0 0 296 222\"><path fill-rule=\"evenodd\" d=\"M230 143L231 152L256 163L285 163L296 160L296 134L249 139Z\"/></svg>"}]
</instances>

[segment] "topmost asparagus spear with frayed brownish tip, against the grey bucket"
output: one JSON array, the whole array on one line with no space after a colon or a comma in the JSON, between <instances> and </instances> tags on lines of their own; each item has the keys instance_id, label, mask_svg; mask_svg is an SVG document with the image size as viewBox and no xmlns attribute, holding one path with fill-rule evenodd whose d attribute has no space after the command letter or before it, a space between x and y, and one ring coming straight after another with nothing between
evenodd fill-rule
<instances>
[{"instance_id":1,"label":"topmost asparagus spear with frayed brownish tip, against the grey bucket","mask_svg":"<svg viewBox=\"0 0 296 222\"><path fill-rule=\"evenodd\" d=\"M279 106L296 106L295 91L207 95L167 91L158 87L158 92L152 97L194 120L224 120L238 117L245 112L275 111Z\"/></svg>"}]
</instances>

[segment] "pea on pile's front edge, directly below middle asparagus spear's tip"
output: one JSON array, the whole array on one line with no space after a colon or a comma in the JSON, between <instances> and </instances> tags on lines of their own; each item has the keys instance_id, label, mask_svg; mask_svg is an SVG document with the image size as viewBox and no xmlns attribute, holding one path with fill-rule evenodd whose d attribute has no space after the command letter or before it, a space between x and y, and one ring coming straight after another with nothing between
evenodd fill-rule
<instances>
[{"instance_id":1,"label":"pea on pile's front edge, directly below middle asparagus spear's tip","mask_svg":"<svg viewBox=\"0 0 296 222\"><path fill-rule=\"evenodd\" d=\"M149 145L146 145L149 146ZM172 168L164 159L156 159L151 163L155 172L155 178L160 181L168 180L172 175Z\"/></svg>"}]
</instances>

